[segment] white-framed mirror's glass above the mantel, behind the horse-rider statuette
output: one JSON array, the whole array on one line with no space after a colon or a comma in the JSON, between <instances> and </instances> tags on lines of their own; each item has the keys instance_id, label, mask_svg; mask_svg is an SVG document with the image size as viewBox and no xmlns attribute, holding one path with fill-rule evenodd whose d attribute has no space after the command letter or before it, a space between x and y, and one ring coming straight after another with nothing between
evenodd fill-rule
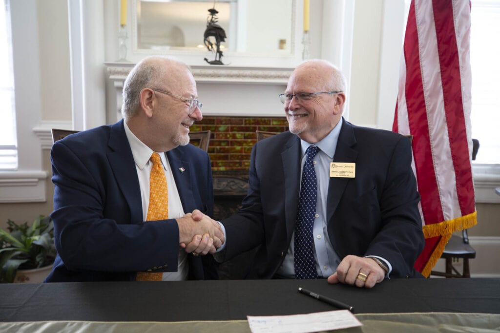
<instances>
[{"instance_id":1,"label":"white-framed mirror's glass above the mantel, behind the horse-rider statuette","mask_svg":"<svg viewBox=\"0 0 500 333\"><path fill-rule=\"evenodd\" d=\"M299 0L130 0L127 59L135 63L147 55L166 54L191 66L206 65L204 58L214 56L203 44L212 7L226 32L221 43L224 64L293 68L301 60Z\"/></svg>"}]
</instances>

